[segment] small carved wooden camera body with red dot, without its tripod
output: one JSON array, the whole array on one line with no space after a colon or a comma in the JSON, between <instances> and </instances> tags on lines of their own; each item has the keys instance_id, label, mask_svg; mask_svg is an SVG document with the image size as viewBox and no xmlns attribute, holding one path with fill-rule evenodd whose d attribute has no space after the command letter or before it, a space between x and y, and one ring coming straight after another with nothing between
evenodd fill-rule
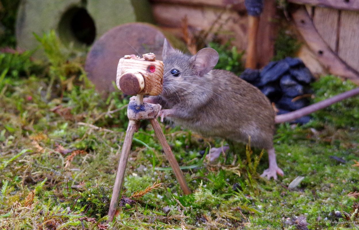
<instances>
[{"instance_id":1,"label":"small carved wooden camera body with red dot, without its tripod","mask_svg":"<svg viewBox=\"0 0 359 230\"><path fill-rule=\"evenodd\" d=\"M143 58L125 55L118 62L116 85L127 95L159 95L163 85L163 62L157 61L153 53L146 53Z\"/></svg>"}]
</instances>

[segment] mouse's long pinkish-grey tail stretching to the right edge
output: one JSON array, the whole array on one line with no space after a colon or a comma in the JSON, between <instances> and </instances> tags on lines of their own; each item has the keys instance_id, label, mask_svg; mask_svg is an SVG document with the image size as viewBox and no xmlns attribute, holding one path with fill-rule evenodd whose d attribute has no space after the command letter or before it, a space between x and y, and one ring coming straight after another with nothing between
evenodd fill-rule
<instances>
[{"instance_id":1,"label":"mouse's long pinkish-grey tail stretching to the right edge","mask_svg":"<svg viewBox=\"0 0 359 230\"><path fill-rule=\"evenodd\" d=\"M328 107L329 105L332 105L334 103L340 102L341 100L353 97L353 96L358 95L358 94L359 94L359 88L355 88L355 89L346 91L344 93L338 94L338 95L336 95L334 97L322 100L321 102L317 102L317 103L311 104L311 105L309 105L307 107L298 109L296 111L277 115L277 116L275 116L274 121L275 121L276 124L284 123L284 122L287 122L287 121L293 121L295 119L298 119L300 117L306 116L306 115L308 115L310 113L313 113L315 111L318 111L320 109Z\"/></svg>"}]
</instances>

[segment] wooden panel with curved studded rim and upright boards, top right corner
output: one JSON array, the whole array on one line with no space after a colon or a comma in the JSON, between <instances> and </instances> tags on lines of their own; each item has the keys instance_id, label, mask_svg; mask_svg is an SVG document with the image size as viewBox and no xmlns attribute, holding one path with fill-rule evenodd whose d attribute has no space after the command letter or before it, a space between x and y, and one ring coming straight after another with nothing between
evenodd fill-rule
<instances>
[{"instance_id":1,"label":"wooden panel with curved studded rim and upright boards, top right corner","mask_svg":"<svg viewBox=\"0 0 359 230\"><path fill-rule=\"evenodd\" d=\"M359 1L288 0L295 25L324 69L359 84Z\"/></svg>"}]
</instances>

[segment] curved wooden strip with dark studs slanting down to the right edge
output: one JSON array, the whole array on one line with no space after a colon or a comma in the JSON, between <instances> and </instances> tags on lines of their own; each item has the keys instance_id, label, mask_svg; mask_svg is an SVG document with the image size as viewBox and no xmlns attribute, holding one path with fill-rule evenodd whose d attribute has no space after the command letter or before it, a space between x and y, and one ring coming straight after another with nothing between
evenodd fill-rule
<instances>
[{"instance_id":1,"label":"curved wooden strip with dark studs slanting down to the right edge","mask_svg":"<svg viewBox=\"0 0 359 230\"><path fill-rule=\"evenodd\" d=\"M304 6L291 11L294 23L317 59L334 75L342 76L359 84L359 72L348 66L328 47L318 34Z\"/></svg>"}]
</instances>

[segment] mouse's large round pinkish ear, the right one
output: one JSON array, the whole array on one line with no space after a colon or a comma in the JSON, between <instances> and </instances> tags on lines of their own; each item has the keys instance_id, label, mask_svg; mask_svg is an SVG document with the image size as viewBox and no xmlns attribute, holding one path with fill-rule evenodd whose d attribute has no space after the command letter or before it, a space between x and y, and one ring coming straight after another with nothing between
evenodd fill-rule
<instances>
[{"instance_id":1,"label":"mouse's large round pinkish ear, the right one","mask_svg":"<svg viewBox=\"0 0 359 230\"><path fill-rule=\"evenodd\" d=\"M198 75L203 76L211 71L218 62L218 53L212 48L204 48L193 56Z\"/></svg>"}]
</instances>

